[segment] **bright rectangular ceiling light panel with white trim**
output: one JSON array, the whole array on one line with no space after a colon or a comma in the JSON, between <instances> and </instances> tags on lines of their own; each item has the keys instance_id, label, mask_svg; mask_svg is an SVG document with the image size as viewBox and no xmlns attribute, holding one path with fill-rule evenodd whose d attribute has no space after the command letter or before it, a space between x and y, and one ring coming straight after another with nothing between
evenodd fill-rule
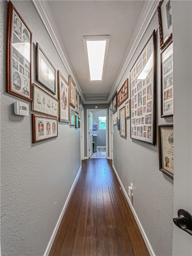
<instances>
[{"instance_id":1,"label":"bright rectangular ceiling light panel with white trim","mask_svg":"<svg viewBox=\"0 0 192 256\"><path fill-rule=\"evenodd\" d=\"M90 80L102 80L109 46L109 36L84 36L83 39Z\"/></svg>"}]
</instances>

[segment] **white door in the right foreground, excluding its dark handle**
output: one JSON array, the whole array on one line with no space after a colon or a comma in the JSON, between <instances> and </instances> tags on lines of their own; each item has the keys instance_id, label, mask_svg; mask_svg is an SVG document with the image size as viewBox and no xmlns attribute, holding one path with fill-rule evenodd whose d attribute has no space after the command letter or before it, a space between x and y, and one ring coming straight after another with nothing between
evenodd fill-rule
<instances>
[{"instance_id":1,"label":"white door in the right foreground, excluding its dark handle","mask_svg":"<svg viewBox=\"0 0 192 256\"><path fill-rule=\"evenodd\" d=\"M174 216L192 214L192 2L171 1L174 81ZM166 214L166 213L165 213ZM171 221L171 220L170 220ZM173 224L174 225L174 224ZM174 225L173 255L192 255L192 236Z\"/></svg>"}]
</instances>

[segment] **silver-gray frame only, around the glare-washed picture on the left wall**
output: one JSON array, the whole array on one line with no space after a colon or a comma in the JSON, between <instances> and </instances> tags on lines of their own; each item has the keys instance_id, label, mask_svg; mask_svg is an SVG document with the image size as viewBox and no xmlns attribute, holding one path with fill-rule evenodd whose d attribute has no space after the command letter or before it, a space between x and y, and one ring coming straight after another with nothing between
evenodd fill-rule
<instances>
[{"instance_id":1,"label":"silver-gray frame only, around the glare-washed picture on the left wall","mask_svg":"<svg viewBox=\"0 0 192 256\"><path fill-rule=\"evenodd\" d=\"M43 53L44 57L47 59L49 64L54 69L54 73L55 73L54 90L49 88L49 86L47 84L45 84L43 81L40 80L40 66L39 66L39 57L40 57L40 55L39 55L39 51L41 51ZM49 60L49 58L47 57L47 55L45 54L45 52L42 50L42 48L40 47L40 45L38 43L36 43L36 79L40 84L45 86L46 89L48 89L53 94L56 94L56 69L55 69L55 67L53 66L53 64L51 63L51 61Z\"/></svg>"}]
</instances>

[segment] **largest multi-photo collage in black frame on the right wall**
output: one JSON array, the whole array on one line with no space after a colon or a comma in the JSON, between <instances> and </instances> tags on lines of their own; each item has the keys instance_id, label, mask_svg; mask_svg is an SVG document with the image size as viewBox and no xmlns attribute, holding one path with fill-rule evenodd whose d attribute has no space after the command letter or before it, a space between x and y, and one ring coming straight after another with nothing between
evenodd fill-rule
<instances>
[{"instance_id":1,"label":"largest multi-photo collage in black frame on the right wall","mask_svg":"<svg viewBox=\"0 0 192 256\"><path fill-rule=\"evenodd\" d=\"M155 145L155 30L130 70L131 139Z\"/></svg>"}]
</instances>

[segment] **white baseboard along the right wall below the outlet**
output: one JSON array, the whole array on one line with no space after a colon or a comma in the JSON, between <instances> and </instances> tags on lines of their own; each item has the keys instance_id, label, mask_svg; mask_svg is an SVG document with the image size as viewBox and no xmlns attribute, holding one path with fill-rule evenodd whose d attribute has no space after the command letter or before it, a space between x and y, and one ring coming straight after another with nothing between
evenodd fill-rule
<instances>
[{"instance_id":1,"label":"white baseboard along the right wall below the outlet","mask_svg":"<svg viewBox=\"0 0 192 256\"><path fill-rule=\"evenodd\" d=\"M135 209L133 208L133 205L132 205L132 203L131 203L131 201L130 201L128 195L127 195L127 192L125 191L125 188L123 187L123 184L122 184L122 182L121 182L121 180L120 180L120 178L119 178L119 175L117 174L117 171L116 171L114 165L113 165L113 169L114 169L115 174L116 174L116 176L117 176L117 178L118 178L118 180L119 180L119 183L120 183L120 185L121 185L121 188L122 188L122 190L123 190L123 193L124 193L124 195L125 195L125 197L126 197L126 199L127 199L127 202L128 202L128 204L129 204L130 208L131 208L131 211L132 211L132 213L133 213L133 215L134 215L134 217L135 217L135 220L136 220L136 222L137 222L137 225L138 225L138 227L139 227L139 229L140 229L140 231L141 231L141 234L142 234L142 236L143 236L143 239L144 239L144 241L145 241L145 244L146 244L146 246L147 246L147 249L149 250L149 253L150 253L151 256L155 256L155 253L154 253L154 251L153 251L153 249L152 249L152 247L151 247L151 245L150 245L150 243L149 243L149 240L148 240L148 238L147 238L147 235L146 235L146 233L145 233L145 231L144 231L144 229L143 229L143 227L142 227L142 225L141 225L141 222L140 222L140 220L139 220L139 218L138 218L138 216L137 216L137 214L136 214L136 212L135 212Z\"/></svg>"}]
</instances>

